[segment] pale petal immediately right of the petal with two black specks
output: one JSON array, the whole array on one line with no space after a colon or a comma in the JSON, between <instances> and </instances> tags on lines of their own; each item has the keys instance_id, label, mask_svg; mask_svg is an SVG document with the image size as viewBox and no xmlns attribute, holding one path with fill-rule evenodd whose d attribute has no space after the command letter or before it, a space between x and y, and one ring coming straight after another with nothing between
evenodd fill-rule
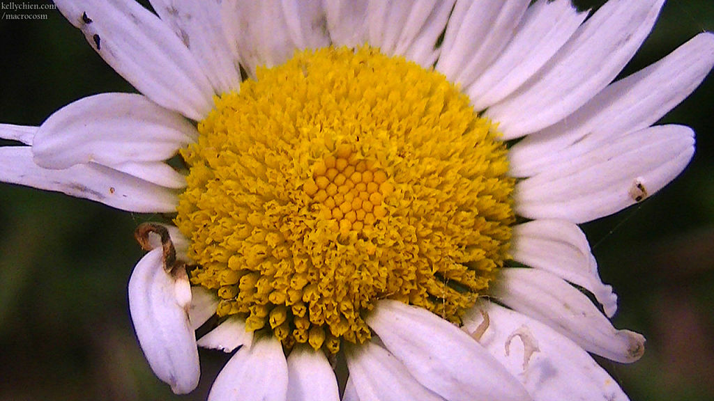
<instances>
[{"instance_id":1,"label":"pale petal immediately right of the petal with two black specks","mask_svg":"<svg viewBox=\"0 0 714 401\"><path fill-rule=\"evenodd\" d=\"M151 0L151 6L191 51L216 93L238 91L241 75L223 32L221 1Z\"/></svg>"}]
</instances>

